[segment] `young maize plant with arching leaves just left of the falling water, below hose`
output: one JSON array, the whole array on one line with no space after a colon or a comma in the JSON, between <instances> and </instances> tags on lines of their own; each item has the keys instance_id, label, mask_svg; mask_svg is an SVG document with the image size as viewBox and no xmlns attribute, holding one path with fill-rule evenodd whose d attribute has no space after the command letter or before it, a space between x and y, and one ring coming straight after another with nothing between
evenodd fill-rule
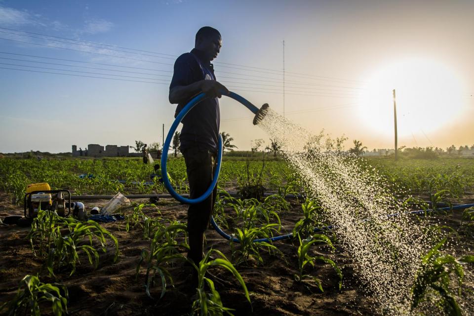
<instances>
[{"instance_id":1,"label":"young maize plant with arching leaves just left of the falling water, below hose","mask_svg":"<svg viewBox=\"0 0 474 316\"><path fill-rule=\"evenodd\" d=\"M309 250L314 243L324 243L328 245L332 250L335 250L332 245L331 239L326 235L314 234L306 239L301 240L300 235L298 234L298 239L300 241L300 246L298 247L298 274L295 275L297 281L302 281L305 277L311 277L316 281L317 287L323 292L321 280L316 276L310 276L304 274L304 268L307 264L310 264L313 268L315 267L316 261L322 261L326 264L332 266L337 276L339 276L339 289L342 286L342 272L341 269L336 265L334 261L324 256L312 256L309 254Z\"/></svg>"}]
</instances>

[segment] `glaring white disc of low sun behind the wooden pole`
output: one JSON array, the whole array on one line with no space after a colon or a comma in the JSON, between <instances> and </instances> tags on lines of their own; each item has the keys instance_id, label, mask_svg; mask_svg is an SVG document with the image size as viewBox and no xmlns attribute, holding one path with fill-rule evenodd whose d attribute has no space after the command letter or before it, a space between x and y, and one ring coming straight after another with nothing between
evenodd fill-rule
<instances>
[{"instance_id":1,"label":"glaring white disc of low sun behind the wooden pole","mask_svg":"<svg viewBox=\"0 0 474 316\"><path fill-rule=\"evenodd\" d=\"M433 60L407 59L382 67L366 87L359 114L375 132L394 133L393 89L399 136L438 130L463 112L460 80Z\"/></svg>"}]
</instances>

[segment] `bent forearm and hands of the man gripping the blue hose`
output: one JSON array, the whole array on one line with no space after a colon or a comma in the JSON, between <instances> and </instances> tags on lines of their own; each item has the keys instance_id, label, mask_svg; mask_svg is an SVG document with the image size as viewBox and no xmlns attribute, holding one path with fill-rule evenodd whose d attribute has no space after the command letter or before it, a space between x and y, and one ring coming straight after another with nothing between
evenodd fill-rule
<instances>
[{"instance_id":1,"label":"bent forearm and hands of the man gripping the blue hose","mask_svg":"<svg viewBox=\"0 0 474 316\"><path fill-rule=\"evenodd\" d=\"M200 92L204 92L206 96L215 98L221 97L222 94L228 94L229 90L215 80L200 80L189 85L175 86L169 89L169 103L184 103Z\"/></svg>"}]
</instances>

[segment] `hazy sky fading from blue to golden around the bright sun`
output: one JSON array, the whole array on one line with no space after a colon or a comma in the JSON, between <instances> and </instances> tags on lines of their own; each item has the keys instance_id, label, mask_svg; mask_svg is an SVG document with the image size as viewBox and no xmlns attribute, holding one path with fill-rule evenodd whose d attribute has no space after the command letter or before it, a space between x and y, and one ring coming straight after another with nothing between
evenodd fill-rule
<instances>
[{"instance_id":1,"label":"hazy sky fading from blue to golden around the bright sun","mask_svg":"<svg viewBox=\"0 0 474 316\"><path fill-rule=\"evenodd\" d=\"M468 0L0 0L0 152L161 143L172 64L205 25L223 37L217 79L281 114L284 40L285 116L347 148L394 147L393 89L398 146L472 146L473 12ZM220 104L239 149L268 143L248 110Z\"/></svg>"}]
</instances>

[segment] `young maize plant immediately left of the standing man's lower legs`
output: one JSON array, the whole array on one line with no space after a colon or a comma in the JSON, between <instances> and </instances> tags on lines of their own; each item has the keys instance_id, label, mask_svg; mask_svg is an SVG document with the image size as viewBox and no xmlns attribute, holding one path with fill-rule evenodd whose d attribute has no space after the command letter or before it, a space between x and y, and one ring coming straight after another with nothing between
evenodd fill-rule
<instances>
[{"instance_id":1,"label":"young maize plant immediately left of the standing man's lower legs","mask_svg":"<svg viewBox=\"0 0 474 316\"><path fill-rule=\"evenodd\" d=\"M176 260L186 261L186 257L180 253L180 250L189 250L186 244L186 225L173 222L168 227L160 227L154 234L150 251L142 250L140 259L138 261L135 277L138 279L140 268L143 262L147 263L147 273L145 276L145 291L147 295L153 299L150 289L155 285L157 274L161 280L161 295L160 299L166 292L167 280L173 285L173 278L169 273L167 266L169 263ZM179 234L184 235L184 242L178 243L176 238Z\"/></svg>"}]
</instances>

